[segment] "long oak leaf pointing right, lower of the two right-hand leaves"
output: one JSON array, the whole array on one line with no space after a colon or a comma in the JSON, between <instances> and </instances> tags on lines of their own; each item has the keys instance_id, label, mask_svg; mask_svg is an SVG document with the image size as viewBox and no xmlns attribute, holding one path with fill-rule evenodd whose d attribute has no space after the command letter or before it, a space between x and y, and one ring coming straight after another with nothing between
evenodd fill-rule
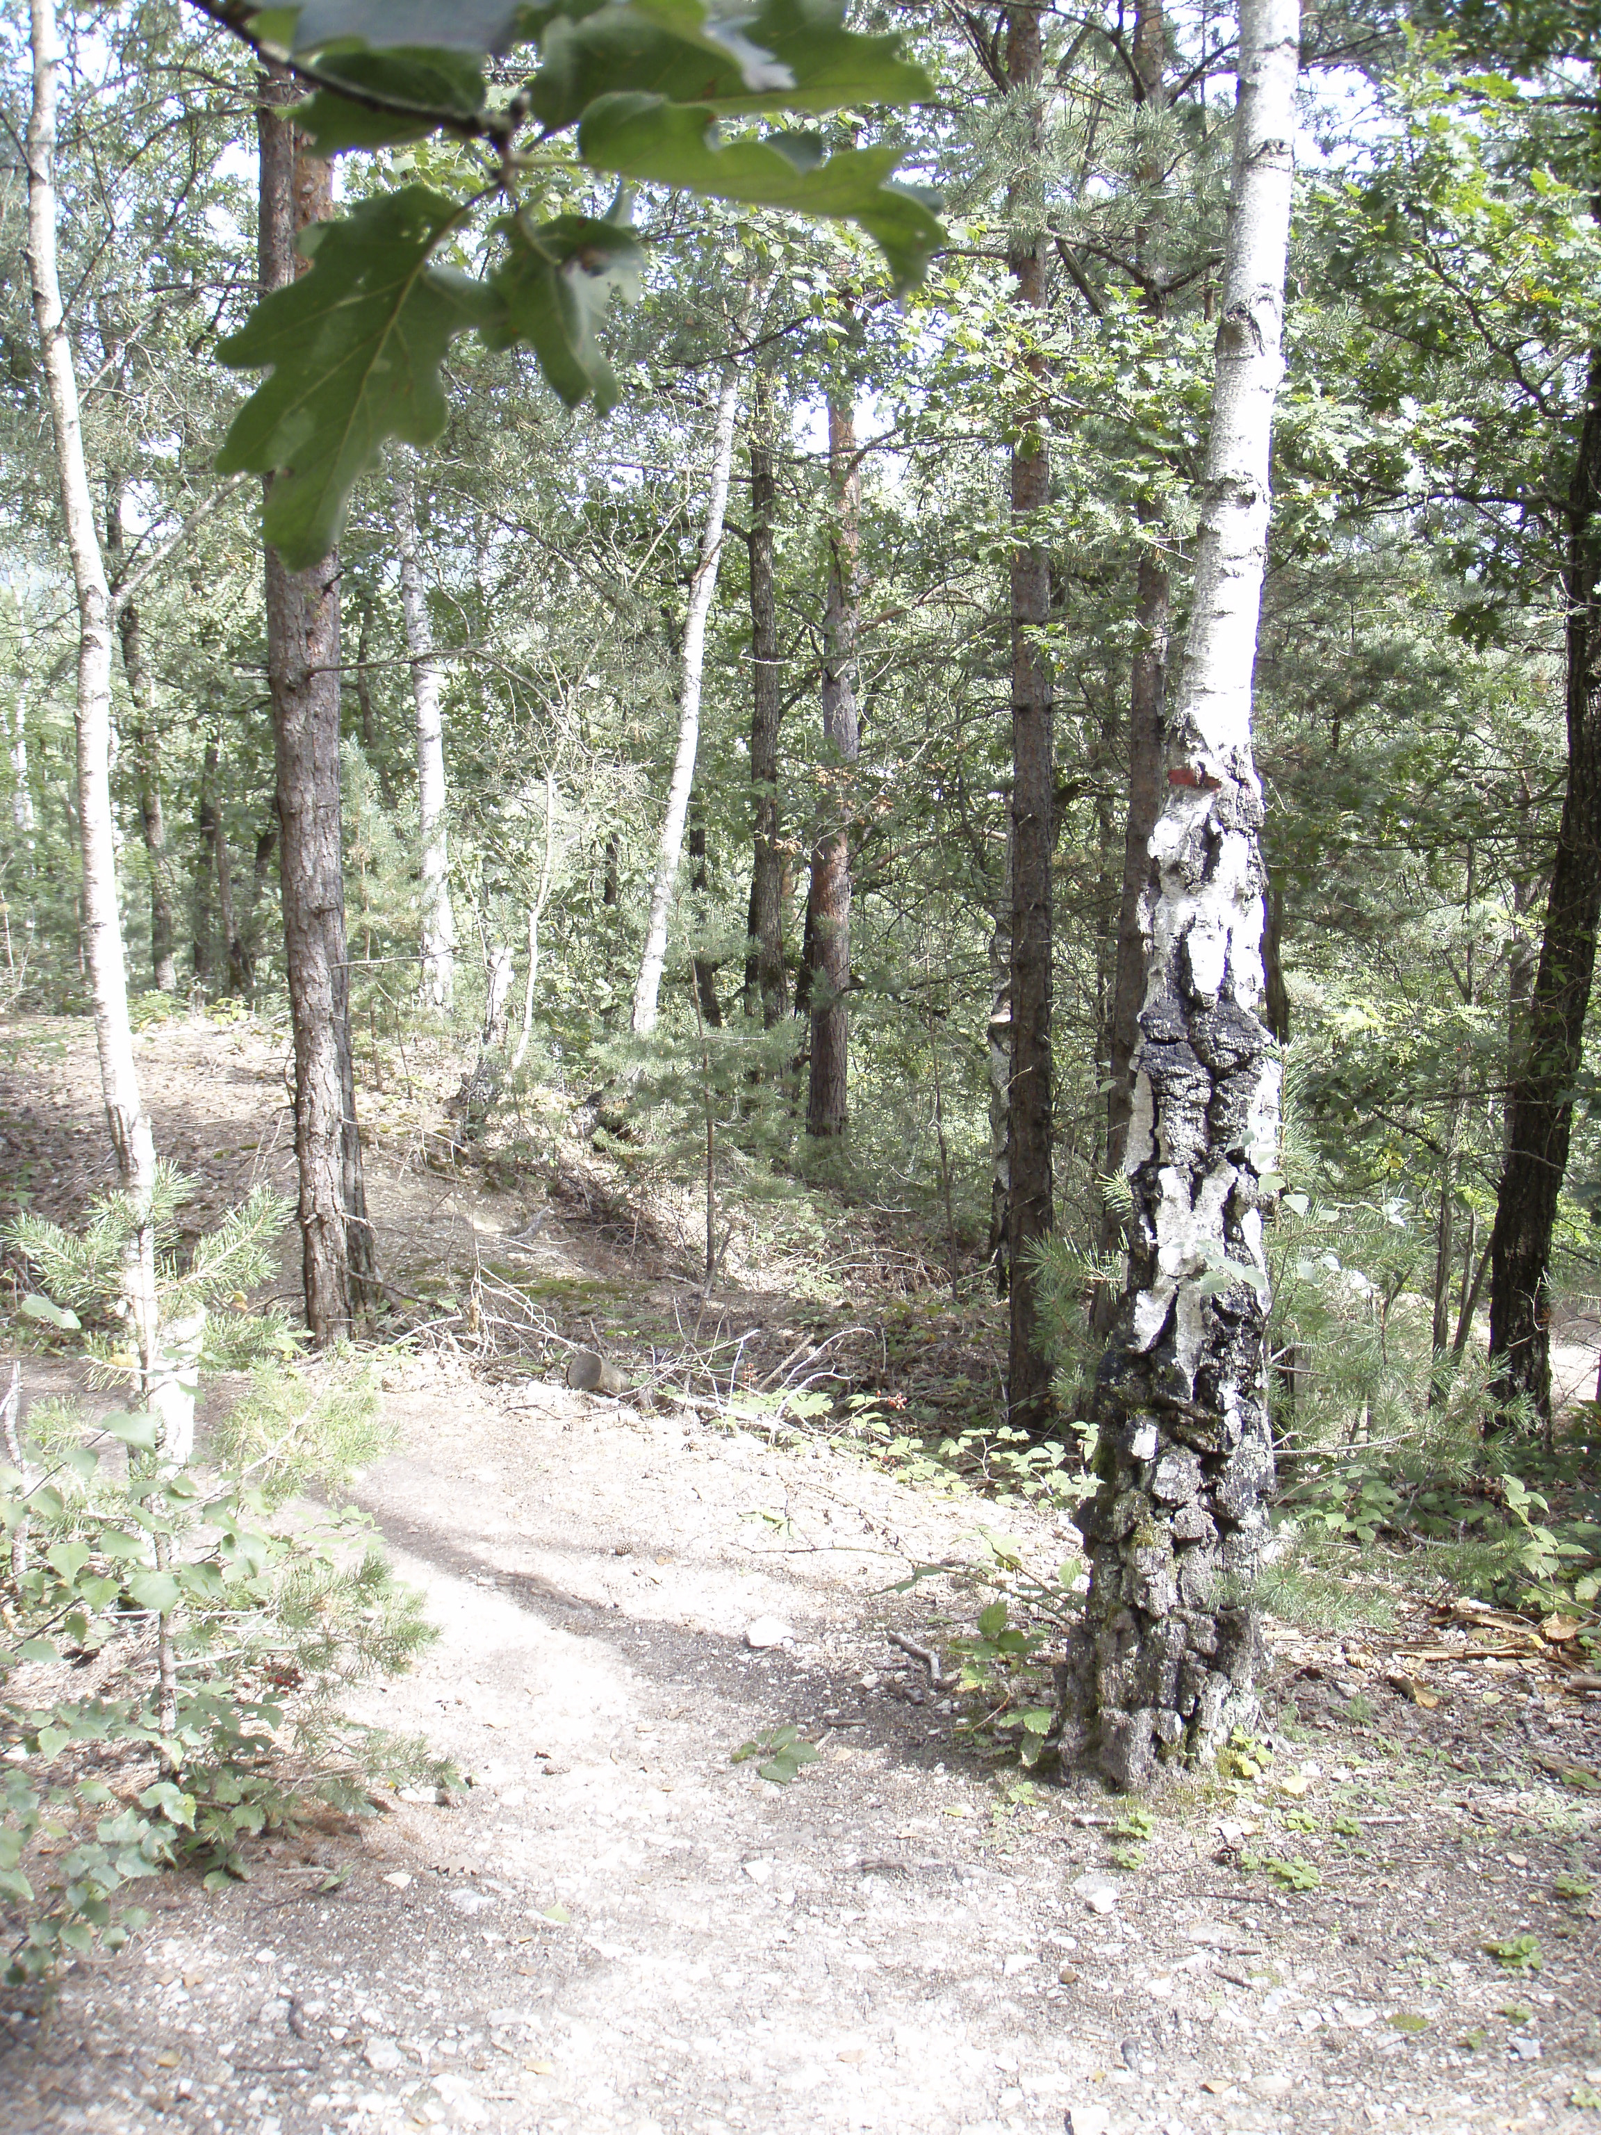
<instances>
[{"instance_id":1,"label":"long oak leaf pointing right, lower of the two right-hand leaves","mask_svg":"<svg viewBox=\"0 0 1601 2135\"><path fill-rule=\"evenodd\" d=\"M715 137L709 105L668 105L660 96L600 96L578 126L578 154L596 171L685 186L717 201L788 207L803 216L858 222L884 252L897 288L916 282L944 228L924 201L886 179L899 149L856 147L824 158L811 135L762 141ZM226 346L226 344L224 344Z\"/></svg>"}]
</instances>

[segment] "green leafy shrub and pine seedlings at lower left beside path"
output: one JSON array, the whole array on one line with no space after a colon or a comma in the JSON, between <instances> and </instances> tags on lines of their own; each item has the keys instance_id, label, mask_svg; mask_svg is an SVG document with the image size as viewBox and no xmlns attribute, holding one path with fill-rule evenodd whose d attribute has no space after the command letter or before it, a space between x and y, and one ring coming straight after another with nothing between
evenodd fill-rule
<instances>
[{"instance_id":1,"label":"green leafy shrub and pine seedlings at lower left beside path","mask_svg":"<svg viewBox=\"0 0 1601 2135\"><path fill-rule=\"evenodd\" d=\"M158 1375L205 1360L196 1319L269 1264L284 1211L252 1198L179 1251L158 1198ZM371 1369L290 1364L254 1322L256 1364L192 1456L145 1403L117 1343L132 1211L83 1232L11 1230L17 1328L83 1354L109 1401L36 1401L0 1458L0 1926L11 1979L49 1973L141 1926L134 1885L188 1866L248 1875L248 1840L316 1808L363 1813L380 1778L453 1774L425 1744L352 1723L348 1691L433 1635L371 1518L342 1503L389 1443ZM53 1287L45 1290L49 1277ZM73 1298L75 1302L64 1302ZM88 1326L83 1322L90 1322ZM235 1330L231 1356L252 1341ZM199 1362L196 1362L199 1358ZM190 1377L190 1388L194 1377ZM305 1492L318 1501L307 1503Z\"/></svg>"}]
</instances>

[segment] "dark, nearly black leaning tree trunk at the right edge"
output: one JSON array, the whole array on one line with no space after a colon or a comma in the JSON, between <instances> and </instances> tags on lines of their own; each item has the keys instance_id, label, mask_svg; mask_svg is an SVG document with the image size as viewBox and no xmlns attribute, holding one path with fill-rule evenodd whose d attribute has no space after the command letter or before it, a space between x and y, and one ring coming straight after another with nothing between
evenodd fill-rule
<instances>
[{"instance_id":1,"label":"dark, nearly black leaning tree trunk at the right edge","mask_svg":"<svg viewBox=\"0 0 1601 2135\"><path fill-rule=\"evenodd\" d=\"M1567 792L1545 937L1507 1089L1507 1161L1490 1234L1490 1358L1503 1401L1552 1413L1550 1264L1601 918L1601 350L1567 500Z\"/></svg>"}]
</instances>

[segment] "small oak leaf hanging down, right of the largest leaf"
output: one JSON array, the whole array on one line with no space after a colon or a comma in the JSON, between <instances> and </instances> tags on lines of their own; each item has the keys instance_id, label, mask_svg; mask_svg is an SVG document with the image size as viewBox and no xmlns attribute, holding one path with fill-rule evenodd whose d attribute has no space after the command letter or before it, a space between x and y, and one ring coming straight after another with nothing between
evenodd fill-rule
<instances>
[{"instance_id":1,"label":"small oak leaf hanging down, right of the largest leaf","mask_svg":"<svg viewBox=\"0 0 1601 2135\"><path fill-rule=\"evenodd\" d=\"M506 218L497 226L510 241L510 258L493 275L506 320L489 331L489 344L527 342L568 408L593 393L606 414L621 393L596 329L613 290L623 303L638 297L638 239L621 218L557 216L538 228Z\"/></svg>"}]
</instances>

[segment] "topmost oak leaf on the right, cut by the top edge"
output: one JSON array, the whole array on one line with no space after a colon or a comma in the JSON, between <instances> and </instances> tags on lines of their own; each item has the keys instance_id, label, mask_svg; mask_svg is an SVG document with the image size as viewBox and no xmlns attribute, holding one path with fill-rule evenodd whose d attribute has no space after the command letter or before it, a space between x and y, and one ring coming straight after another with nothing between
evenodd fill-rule
<instances>
[{"instance_id":1,"label":"topmost oak leaf on the right, cut by the top edge","mask_svg":"<svg viewBox=\"0 0 1601 2135\"><path fill-rule=\"evenodd\" d=\"M529 107L544 126L570 126L598 96L643 90L724 117L754 111L839 111L909 105L931 94L894 36L854 36L837 0L764 0L717 17L698 0L544 9L542 66Z\"/></svg>"}]
</instances>

